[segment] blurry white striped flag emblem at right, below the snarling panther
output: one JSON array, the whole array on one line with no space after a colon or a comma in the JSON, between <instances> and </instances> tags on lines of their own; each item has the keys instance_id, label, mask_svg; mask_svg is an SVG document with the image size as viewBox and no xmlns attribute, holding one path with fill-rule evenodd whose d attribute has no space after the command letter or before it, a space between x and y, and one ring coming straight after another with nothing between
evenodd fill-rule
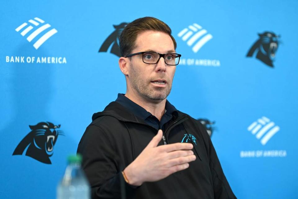
<instances>
[{"instance_id":1,"label":"blurry white striped flag emblem at right, below the snarling panther","mask_svg":"<svg viewBox=\"0 0 298 199\"><path fill-rule=\"evenodd\" d=\"M247 130L251 131L257 139L261 139L261 144L265 145L279 131L279 126L275 126L274 122L263 116L253 122Z\"/></svg>"}]
</instances>

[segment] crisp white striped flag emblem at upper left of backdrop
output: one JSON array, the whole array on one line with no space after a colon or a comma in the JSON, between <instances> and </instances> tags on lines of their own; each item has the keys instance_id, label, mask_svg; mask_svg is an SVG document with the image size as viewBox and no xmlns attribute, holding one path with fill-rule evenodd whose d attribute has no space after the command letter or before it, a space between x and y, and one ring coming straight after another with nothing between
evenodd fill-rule
<instances>
[{"instance_id":1,"label":"crisp white striped flag emblem at upper left of backdrop","mask_svg":"<svg viewBox=\"0 0 298 199\"><path fill-rule=\"evenodd\" d=\"M29 33L32 29L37 28L29 34L27 37L28 42L31 42L34 38L36 38L40 33L44 32L46 29L50 28L50 24L44 24L44 20L35 17L34 20L30 19L28 23L23 23L19 27L16 28L16 32L19 32L22 30L21 35L24 37L27 33ZM44 24L44 25L43 25ZM44 42L46 42L50 37L52 37L54 34L56 34L58 31L56 29L51 29L44 33L34 44L34 48L37 50Z\"/></svg>"}]
</instances>

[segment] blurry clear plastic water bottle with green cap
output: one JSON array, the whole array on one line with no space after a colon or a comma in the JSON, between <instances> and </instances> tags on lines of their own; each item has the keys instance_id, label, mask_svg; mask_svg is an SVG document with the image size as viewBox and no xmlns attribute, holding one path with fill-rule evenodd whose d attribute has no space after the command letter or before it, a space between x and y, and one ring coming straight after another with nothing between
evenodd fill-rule
<instances>
[{"instance_id":1,"label":"blurry clear plastic water bottle with green cap","mask_svg":"<svg viewBox=\"0 0 298 199\"><path fill-rule=\"evenodd\" d=\"M57 187L57 199L90 199L90 185L81 169L82 156L68 157L63 179Z\"/></svg>"}]
</instances>

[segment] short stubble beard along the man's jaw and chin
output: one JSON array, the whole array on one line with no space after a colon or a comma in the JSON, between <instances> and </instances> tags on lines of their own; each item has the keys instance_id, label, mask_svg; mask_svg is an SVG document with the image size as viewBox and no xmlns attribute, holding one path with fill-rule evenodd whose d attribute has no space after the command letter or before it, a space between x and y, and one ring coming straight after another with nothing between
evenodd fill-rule
<instances>
[{"instance_id":1,"label":"short stubble beard along the man's jaw and chin","mask_svg":"<svg viewBox=\"0 0 298 199\"><path fill-rule=\"evenodd\" d=\"M152 88L151 86L147 86L146 80L142 80L142 78L138 75L138 72L134 69L133 65L130 64L130 83L131 86L141 95L147 97L152 100L164 100L168 97L172 89L172 81L167 81L166 87L156 87ZM158 79L162 79L162 77L158 77Z\"/></svg>"}]
</instances>

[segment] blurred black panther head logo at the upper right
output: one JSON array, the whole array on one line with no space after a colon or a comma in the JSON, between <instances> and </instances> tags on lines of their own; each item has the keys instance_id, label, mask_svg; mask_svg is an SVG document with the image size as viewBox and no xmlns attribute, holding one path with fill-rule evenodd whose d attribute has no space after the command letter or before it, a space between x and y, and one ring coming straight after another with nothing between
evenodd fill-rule
<instances>
[{"instance_id":1,"label":"blurred black panther head logo at the upper right","mask_svg":"<svg viewBox=\"0 0 298 199\"><path fill-rule=\"evenodd\" d=\"M278 38L280 36L277 36L273 32L264 32L263 34L259 34L259 36L260 38L248 51L246 57L252 57L256 52L257 59L273 68L273 61L279 44Z\"/></svg>"}]
</instances>

